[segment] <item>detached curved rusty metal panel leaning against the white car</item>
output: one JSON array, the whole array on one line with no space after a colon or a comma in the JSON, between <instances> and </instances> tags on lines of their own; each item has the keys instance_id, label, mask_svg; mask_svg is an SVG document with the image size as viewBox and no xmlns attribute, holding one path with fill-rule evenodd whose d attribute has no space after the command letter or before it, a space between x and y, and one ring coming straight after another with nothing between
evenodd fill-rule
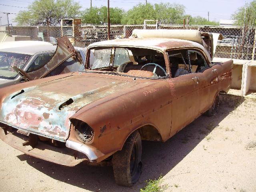
<instances>
[{"instance_id":1,"label":"detached curved rusty metal panel leaning against the white car","mask_svg":"<svg viewBox=\"0 0 256 192\"><path fill-rule=\"evenodd\" d=\"M44 65L30 72L25 72L16 66L13 66L12 68L26 81L44 78L55 69L57 71L54 71L54 75L72 72L69 70L68 66L64 68L58 68L58 66L60 66L60 64L62 64L64 61L68 60L68 58L70 57L72 57L75 61L78 61L80 62L80 64L82 64L82 58L76 52L75 48L72 46L67 36L58 38L57 41L58 44L54 55Z\"/></svg>"}]
</instances>

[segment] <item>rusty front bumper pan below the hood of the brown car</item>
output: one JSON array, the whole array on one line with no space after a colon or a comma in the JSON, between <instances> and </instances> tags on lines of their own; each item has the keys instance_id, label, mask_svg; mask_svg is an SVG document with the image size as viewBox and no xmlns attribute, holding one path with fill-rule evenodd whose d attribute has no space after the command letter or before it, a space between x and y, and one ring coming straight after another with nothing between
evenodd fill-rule
<instances>
[{"instance_id":1,"label":"rusty front bumper pan below the hood of the brown car","mask_svg":"<svg viewBox=\"0 0 256 192\"><path fill-rule=\"evenodd\" d=\"M22 134L14 132L4 133L4 130L0 128L0 139L5 143L36 158L40 158L46 161L54 162L65 166L75 166L84 160L88 160L85 154L78 152L70 148L58 148L51 146L44 142L38 141L35 148L31 146L23 146L22 144L28 140L28 137Z\"/></svg>"}]
</instances>

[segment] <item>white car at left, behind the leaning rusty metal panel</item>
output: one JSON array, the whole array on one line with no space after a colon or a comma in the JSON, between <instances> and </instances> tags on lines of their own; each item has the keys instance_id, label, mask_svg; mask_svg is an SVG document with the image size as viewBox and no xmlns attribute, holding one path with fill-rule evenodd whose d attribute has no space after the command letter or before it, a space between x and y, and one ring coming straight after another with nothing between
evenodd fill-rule
<instances>
[{"instance_id":1,"label":"white car at left, behind the leaning rusty metal panel","mask_svg":"<svg viewBox=\"0 0 256 192\"><path fill-rule=\"evenodd\" d=\"M57 46L48 42L43 42L42 44L34 43L34 45L30 43L27 44L27 42L29 41L26 41L24 46L21 46L20 43L16 42L18 43L18 46L16 47L0 48L0 88L25 81L21 75L18 75L13 66L16 66L24 72L32 72L46 64L50 58L52 58L57 48ZM5 42L3 44L8 43L12 44L14 42ZM76 47L75 50L80 54L82 64L78 62L78 60L73 60L70 57L62 63L62 66L60 66L60 68L62 68L62 72L59 72L59 70L53 70L47 76L77 70L83 71L87 49Z\"/></svg>"}]
</instances>

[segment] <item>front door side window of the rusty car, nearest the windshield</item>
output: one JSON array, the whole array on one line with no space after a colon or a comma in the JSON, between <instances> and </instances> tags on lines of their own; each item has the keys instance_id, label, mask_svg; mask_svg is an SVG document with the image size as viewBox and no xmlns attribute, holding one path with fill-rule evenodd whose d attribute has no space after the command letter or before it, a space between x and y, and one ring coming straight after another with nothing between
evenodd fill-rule
<instances>
[{"instance_id":1,"label":"front door side window of the rusty car, nearest the windshield","mask_svg":"<svg viewBox=\"0 0 256 192\"><path fill-rule=\"evenodd\" d=\"M187 50L173 50L167 52L172 78L190 73Z\"/></svg>"}]
</instances>

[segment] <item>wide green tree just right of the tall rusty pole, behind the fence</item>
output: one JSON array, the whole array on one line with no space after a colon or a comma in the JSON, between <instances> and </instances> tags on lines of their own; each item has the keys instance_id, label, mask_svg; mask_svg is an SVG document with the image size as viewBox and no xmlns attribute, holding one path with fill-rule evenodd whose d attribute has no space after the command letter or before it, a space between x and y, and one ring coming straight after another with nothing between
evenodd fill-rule
<instances>
[{"instance_id":1,"label":"wide green tree just right of the tall rusty pole, behind the fence","mask_svg":"<svg viewBox=\"0 0 256 192\"><path fill-rule=\"evenodd\" d=\"M159 20L164 24L180 24L183 20L185 7L181 4L138 4L128 10L123 18L122 24L143 24L144 20Z\"/></svg>"}]
</instances>

